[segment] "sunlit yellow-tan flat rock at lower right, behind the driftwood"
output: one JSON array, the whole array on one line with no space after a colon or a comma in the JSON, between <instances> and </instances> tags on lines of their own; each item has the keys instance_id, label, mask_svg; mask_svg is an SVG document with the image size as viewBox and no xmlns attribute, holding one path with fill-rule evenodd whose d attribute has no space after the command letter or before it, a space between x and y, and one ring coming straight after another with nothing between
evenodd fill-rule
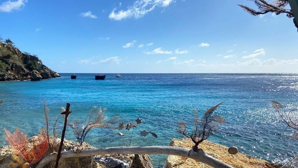
<instances>
[{"instance_id":1,"label":"sunlit yellow-tan flat rock at lower right, behind the driftwood","mask_svg":"<svg viewBox=\"0 0 298 168\"><path fill-rule=\"evenodd\" d=\"M192 148L194 143L190 139L173 139L170 142L170 146ZM203 149L207 154L217 158L235 168L279 168L279 164L271 164L268 161L257 159L238 152L236 155L227 155L228 147L212 143L207 140L203 141L199 147ZM184 158L180 156L169 155L166 160L166 168L212 168L207 164L196 162L190 158Z\"/></svg>"}]
</instances>

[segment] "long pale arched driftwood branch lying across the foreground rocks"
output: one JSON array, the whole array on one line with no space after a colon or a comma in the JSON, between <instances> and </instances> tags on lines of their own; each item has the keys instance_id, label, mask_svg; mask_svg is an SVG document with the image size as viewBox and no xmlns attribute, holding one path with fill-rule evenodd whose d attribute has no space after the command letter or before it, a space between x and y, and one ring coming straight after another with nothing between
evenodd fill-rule
<instances>
[{"instance_id":1,"label":"long pale arched driftwood branch lying across the foreground rocks","mask_svg":"<svg viewBox=\"0 0 298 168\"><path fill-rule=\"evenodd\" d=\"M212 156L208 155L199 149L194 151L192 149L173 147L173 146L134 146L134 147L109 147L109 148L99 148L99 149L85 149L81 150L80 153L74 153L73 150L61 152L61 158L73 158L91 155L105 155L105 154L160 154L160 155L177 155L185 158L192 158L197 162L202 162L208 164L214 168L233 168L232 166L220 161ZM36 168L43 168L45 164L50 161L54 161L57 154L49 155L37 165Z\"/></svg>"}]
</instances>

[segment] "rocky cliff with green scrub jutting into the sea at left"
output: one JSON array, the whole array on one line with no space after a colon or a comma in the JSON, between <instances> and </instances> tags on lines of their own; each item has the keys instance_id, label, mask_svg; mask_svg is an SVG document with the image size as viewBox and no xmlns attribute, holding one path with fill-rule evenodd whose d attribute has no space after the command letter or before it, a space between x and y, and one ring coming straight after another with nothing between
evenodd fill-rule
<instances>
[{"instance_id":1,"label":"rocky cliff with green scrub jutting into the sea at left","mask_svg":"<svg viewBox=\"0 0 298 168\"><path fill-rule=\"evenodd\" d=\"M41 80L55 77L60 75L43 65L37 56L0 42L0 81Z\"/></svg>"}]
</instances>

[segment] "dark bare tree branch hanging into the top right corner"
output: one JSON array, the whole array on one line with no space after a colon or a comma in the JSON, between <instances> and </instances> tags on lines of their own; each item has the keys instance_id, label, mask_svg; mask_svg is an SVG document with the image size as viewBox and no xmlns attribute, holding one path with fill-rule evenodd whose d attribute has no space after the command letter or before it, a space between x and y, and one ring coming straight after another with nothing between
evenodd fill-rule
<instances>
[{"instance_id":1,"label":"dark bare tree branch hanging into the top right corner","mask_svg":"<svg viewBox=\"0 0 298 168\"><path fill-rule=\"evenodd\" d=\"M275 13L276 15L279 15L280 13L285 13L288 18L293 18L294 25L297 28L298 31L298 25L294 18L294 13L291 9L286 9L285 7L288 6L289 1L288 0L273 0L272 3L270 3L270 0L250 0L254 1L256 6L258 7L258 10L254 10L250 7L247 7L245 5L238 4L240 7L242 7L246 12L253 16L257 15L264 15L266 13Z\"/></svg>"}]
</instances>

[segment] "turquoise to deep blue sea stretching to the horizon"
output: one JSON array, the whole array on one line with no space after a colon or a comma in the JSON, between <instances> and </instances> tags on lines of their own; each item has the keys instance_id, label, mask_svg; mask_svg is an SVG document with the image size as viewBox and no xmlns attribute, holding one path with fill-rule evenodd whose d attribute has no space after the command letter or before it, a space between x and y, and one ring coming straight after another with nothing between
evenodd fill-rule
<instances>
[{"instance_id":1,"label":"turquoise to deep blue sea stretching to the horizon","mask_svg":"<svg viewBox=\"0 0 298 168\"><path fill-rule=\"evenodd\" d=\"M291 129L274 112L269 100L286 109L298 107L298 74L61 74L61 78L31 82L0 82L0 145L7 145L3 128L15 126L29 136L43 126L43 100L54 119L60 107L71 103L70 119L83 119L92 106L107 107L108 117L121 116L125 123L143 119L141 129L159 136L142 145L168 145L173 138L183 138L176 131L177 122L185 120L192 128L193 109L201 114L225 101L216 113L225 117L220 131L209 138L240 152L284 163L298 154L298 141L290 138ZM62 124L63 120L59 120ZM137 130L138 131L138 130ZM96 147L123 146L119 130L96 128L86 142ZM68 128L66 138L75 140ZM137 141L137 138L134 137ZM164 165L166 155L153 155L154 166Z\"/></svg>"}]
</instances>

